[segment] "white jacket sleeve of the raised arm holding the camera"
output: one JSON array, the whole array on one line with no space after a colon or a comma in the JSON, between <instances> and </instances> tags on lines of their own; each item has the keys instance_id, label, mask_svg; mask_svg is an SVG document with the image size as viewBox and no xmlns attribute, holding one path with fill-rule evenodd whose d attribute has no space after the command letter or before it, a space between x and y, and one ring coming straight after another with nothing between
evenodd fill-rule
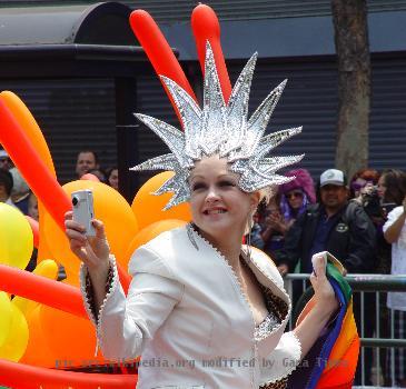
<instances>
[{"instance_id":1,"label":"white jacket sleeve of the raised arm holding the camera","mask_svg":"<svg viewBox=\"0 0 406 389\"><path fill-rule=\"evenodd\" d=\"M133 277L126 298L118 279L116 261L110 258L112 279L98 317L87 293L87 268L81 268L81 291L89 318L97 327L97 338L107 359L133 359L148 339L180 301L184 286L175 280L162 259L147 248L132 256L129 269Z\"/></svg>"}]
</instances>

